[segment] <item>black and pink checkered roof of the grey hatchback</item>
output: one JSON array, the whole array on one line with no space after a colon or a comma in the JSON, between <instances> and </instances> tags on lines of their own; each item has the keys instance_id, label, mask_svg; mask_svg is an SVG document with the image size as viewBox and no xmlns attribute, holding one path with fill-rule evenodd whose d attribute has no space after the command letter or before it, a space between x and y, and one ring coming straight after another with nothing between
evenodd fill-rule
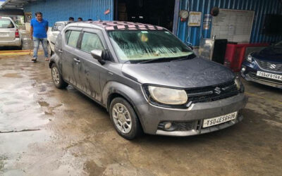
<instances>
[{"instance_id":1,"label":"black and pink checkered roof of the grey hatchback","mask_svg":"<svg viewBox=\"0 0 282 176\"><path fill-rule=\"evenodd\" d=\"M97 27L101 27L104 30L164 30L164 27L160 27L157 25L149 25L143 23L133 23L128 21L104 21L104 20L97 20L97 21L82 21L82 22L75 22L73 24L90 24Z\"/></svg>"}]
</instances>

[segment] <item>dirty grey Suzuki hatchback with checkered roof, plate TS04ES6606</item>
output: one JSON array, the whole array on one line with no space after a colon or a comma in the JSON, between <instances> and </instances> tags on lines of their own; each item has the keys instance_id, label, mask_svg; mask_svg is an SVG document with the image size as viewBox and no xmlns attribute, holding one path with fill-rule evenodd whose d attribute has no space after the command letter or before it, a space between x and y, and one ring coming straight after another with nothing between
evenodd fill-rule
<instances>
[{"instance_id":1,"label":"dirty grey Suzuki hatchback with checkered roof, plate TS04ES6606","mask_svg":"<svg viewBox=\"0 0 282 176\"><path fill-rule=\"evenodd\" d=\"M231 70L154 25L71 23L58 35L49 67L57 88L71 84L104 106L125 139L221 130L243 119L247 103Z\"/></svg>"}]
</instances>

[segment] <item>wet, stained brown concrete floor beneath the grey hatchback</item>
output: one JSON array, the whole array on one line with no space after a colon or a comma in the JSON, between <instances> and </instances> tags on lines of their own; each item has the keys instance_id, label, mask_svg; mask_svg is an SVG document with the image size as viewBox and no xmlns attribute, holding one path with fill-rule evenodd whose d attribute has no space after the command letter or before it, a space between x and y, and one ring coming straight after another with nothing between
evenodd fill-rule
<instances>
[{"instance_id":1,"label":"wet, stained brown concrete floor beneath the grey hatchback","mask_svg":"<svg viewBox=\"0 0 282 176\"><path fill-rule=\"evenodd\" d=\"M0 175L281 175L282 91L244 82L243 122L127 141L104 108L56 89L47 61L0 57Z\"/></svg>"}]
</instances>

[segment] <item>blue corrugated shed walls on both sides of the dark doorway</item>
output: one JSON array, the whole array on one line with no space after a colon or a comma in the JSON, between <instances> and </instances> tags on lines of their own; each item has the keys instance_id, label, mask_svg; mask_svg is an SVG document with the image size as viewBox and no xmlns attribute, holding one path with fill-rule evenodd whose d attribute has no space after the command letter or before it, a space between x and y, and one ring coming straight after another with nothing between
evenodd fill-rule
<instances>
[{"instance_id":1,"label":"blue corrugated shed walls on both sides of the dark doorway","mask_svg":"<svg viewBox=\"0 0 282 176\"><path fill-rule=\"evenodd\" d=\"M87 20L114 20L114 1L115 0L45 0L27 4L24 7L25 12L41 11L44 18L49 20L49 25L53 25L59 20L68 20L73 16L75 20L82 17ZM250 37L251 43L258 42L278 42L282 40L282 36L267 36L262 34L262 26L265 14L281 14L281 0L175 0L175 20L177 36L186 44L198 46L200 38L210 38L212 27L209 30L203 30L203 18L205 14L209 14L212 7L255 11L255 18L252 25L252 33ZM179 7L179 9L177 9ZM106 10L109 14L104 14ZM202 12L202 23L200 27L188 27L187 21L180 22L178 18L179 10L200 11ZM178 26L177 26L178 24ZM212 25L212 24L211 24Z\"/></svg>"}]
</instances>

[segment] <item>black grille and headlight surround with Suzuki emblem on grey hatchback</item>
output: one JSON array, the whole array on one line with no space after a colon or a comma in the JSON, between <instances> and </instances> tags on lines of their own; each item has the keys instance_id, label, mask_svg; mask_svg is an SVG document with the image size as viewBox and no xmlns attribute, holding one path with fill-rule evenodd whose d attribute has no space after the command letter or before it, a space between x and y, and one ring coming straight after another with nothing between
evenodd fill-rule
<instances>
[{"instance_id":1,"label":"black grille and headlight surround with Suzuki emblem on grey hatchback","mask_svg":"<svg viewBox=\"0 0 282 176\"><path fill-rule=\"evenodd\" d=\"M224 84L218 84L209 87L197 87L193 89L185 89L185 92L188 94L188 102L183 105L166 105L163 103L159 103L154 101L149 96L148 86L144 87L145 93L147 95L147 99L150 103L163 106L166 108L187 108L191 103L200 103L200 102L209 102L216 101L220 99L226 99L231 96L235 96L239 94L239 90L237 89L234 80L231 82L226 82Z\"/></svg>"}]
</instances>

